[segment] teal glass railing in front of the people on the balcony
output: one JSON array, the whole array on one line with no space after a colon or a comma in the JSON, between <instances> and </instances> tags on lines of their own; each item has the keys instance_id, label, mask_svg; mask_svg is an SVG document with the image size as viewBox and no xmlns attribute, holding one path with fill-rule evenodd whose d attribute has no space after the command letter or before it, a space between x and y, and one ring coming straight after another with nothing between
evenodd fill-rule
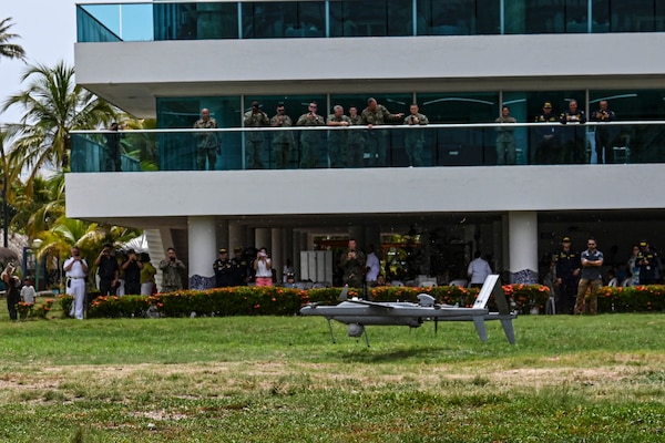
<instances>
[{"instance_id":1,"label":"teal glass railing in front of the people on the balcony","mask_svg":"<svg viewBox=\"0 0 665 443\"><path fill-rule=\"evenodd\" d=\"M665 163L665 122L72 132L74 173Z\"/></svg>"}]
</instances>

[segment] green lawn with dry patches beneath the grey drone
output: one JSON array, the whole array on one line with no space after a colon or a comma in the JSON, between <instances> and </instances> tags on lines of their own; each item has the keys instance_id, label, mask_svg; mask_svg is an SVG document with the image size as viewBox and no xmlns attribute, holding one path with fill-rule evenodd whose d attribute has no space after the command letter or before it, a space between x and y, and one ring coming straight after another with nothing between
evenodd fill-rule
<instances>
[{"instance_id":1,"label":"green lawn with dry patches beneath the grey drone","mask_svg":"<svg viewBox=\"0 0 665 443\"><path fill-rule=\"evenodd\" d=\"M4 305L4 300L0 301ZM663 442L665 316L10 322L0 442Z\"/></svg>"}]
</instances>

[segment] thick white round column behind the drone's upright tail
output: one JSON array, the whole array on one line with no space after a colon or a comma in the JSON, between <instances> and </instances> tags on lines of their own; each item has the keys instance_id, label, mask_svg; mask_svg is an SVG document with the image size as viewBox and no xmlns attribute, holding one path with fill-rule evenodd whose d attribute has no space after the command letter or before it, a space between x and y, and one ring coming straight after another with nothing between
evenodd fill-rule
<instances>
[{"instance_id":1,"label":"thick white round column behind the drone's upright tail","mask_svg":"<svg viewBox=\"0 0 665 443\"><path fill-rule=\"evenodd\" d=\"M538 213L508 213L510 271L513 284L538 284Z\"/></svg>"}]
</instances>

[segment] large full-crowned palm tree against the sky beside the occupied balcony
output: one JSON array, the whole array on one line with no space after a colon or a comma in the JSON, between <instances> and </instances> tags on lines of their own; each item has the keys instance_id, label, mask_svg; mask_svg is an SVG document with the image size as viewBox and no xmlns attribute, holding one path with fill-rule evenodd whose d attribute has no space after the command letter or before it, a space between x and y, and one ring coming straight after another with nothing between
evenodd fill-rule
<instances>
[{"instance_id":1,"label":"large full-crowned palm tree against the sky beside the occupied balcony","mask_svg":"<svg viewBox=\"0 0 665 443\"><path fill-rule=\"evenodd\" d=\"M31 65L23 74L27 87L7 99L2 111L20 106L20 123L8 124L16 135L12 158L29 172L28 185L42 168L66 171L71 156L70 132L108 125L115 120L114 109L74 82L74 69L64 62L49 68Z\"/></svg>"}]
</instances>

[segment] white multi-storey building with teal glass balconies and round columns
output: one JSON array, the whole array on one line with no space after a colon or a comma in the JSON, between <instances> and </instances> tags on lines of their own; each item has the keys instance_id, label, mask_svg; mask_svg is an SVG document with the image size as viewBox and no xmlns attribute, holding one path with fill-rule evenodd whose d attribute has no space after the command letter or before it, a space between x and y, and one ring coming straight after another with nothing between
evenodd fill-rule
<instances>
[{"instance_id":1,"label":"white multi-storey building with teal glass balconies and round columns","mask_svg":"<svg viewBox=\"0 0 665 443\"><path fill-rule=\"evenodd\" d=\"M80 4L78 19L78 83L160 130L126 134L119 173L102 172L99 134L75 134L72 158L83 159L66 176L68 216L146 229L153 251L180 251L193 287L208 285L219 247L266 246L276 268L298 268L300 251L354 237L381 245L400 278L458 277L481 250L513 281L535 281L562 236L577 249L596 237L608 265L642 238L665 245L661 1L155 1ZM284 103L295 122L311 101L327 116L368 97L391 113L419 104L424 166L411 167L406 130L390 127L383 167L368 150L361 164L330 167L335 147L318 131L317 167L301 168L294 131L289 167L277 169L277 131L266 131L264 167L247 168L250 102L268 116ZM608 101L621 122L606 126L608 158L595 124L531 124L545 102L559 115L571 100L586 115ZM498 166L502 105L520 122L518 158ZM204 107L222 154L195 171L190 130ZM583 157L539 161L543 127L556 133L549 150Z\"/></svg>"}]
</instances>

